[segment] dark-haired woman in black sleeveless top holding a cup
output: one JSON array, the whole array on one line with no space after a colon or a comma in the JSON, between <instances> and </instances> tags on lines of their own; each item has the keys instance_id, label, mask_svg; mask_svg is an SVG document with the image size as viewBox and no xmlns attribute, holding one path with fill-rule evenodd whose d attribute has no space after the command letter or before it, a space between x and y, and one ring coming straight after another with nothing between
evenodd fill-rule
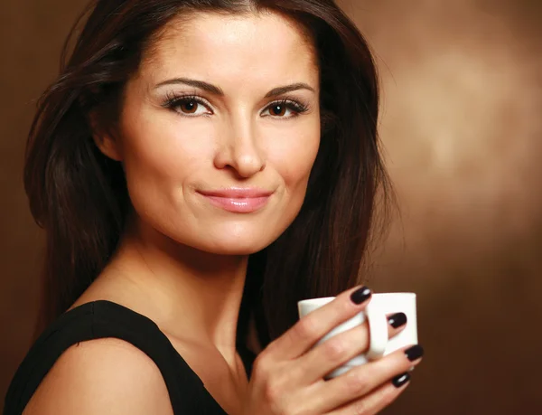
<instances>
[{"instance_id":1,"label":"dark-haired woman in black sleeveless top holding a cup","mask_svg":"<svg viewBox=\"0 0 542 415\"><path fill-rule=\"evenodd\" d=\"M98 0L30 132L41 335L5 413L386 407L420 347L331 381L367 327L311 349L369 302L377 115L369 49L332 0Z\"/></svg>"}]
</instances>

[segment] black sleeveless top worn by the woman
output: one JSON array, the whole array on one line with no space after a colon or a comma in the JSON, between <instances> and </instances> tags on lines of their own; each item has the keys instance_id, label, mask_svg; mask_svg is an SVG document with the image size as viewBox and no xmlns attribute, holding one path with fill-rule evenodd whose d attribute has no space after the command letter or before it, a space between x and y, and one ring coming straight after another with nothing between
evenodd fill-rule
<instances>
[{"instance_id":1,"label":"black sleeveless top worn by the woman","mask_svg":"<svg viewBox=\"0 0 542 415\"><path fill-rule=\"evenodd\" d=\"M4 415L23 412L52 365L71 345L104 337L134 344L154 361L164 377L175 415L226 413L154 321L117 303L98 300L67 311L40 335L9 386ZM238 353L250 376L255 354L240 348Z\"/></svg>"}]
</instances>

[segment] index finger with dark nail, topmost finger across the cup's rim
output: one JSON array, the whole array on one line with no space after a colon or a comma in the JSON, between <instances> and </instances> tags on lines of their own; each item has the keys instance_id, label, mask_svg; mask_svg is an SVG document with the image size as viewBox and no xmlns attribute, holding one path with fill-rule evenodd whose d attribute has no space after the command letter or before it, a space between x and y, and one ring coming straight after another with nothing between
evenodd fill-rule
<instances>
[{"instance_id":1,"label":"index finger with dark nail, topmost finger across the cup's rim","mask_svg":"<svg viewBox=\"0 0 542 415\"><path fill-rule=\"evenodd\" d=\"M304 354L335 326L363 310L371 294L369 288L360 286L341 292L328 304L300 318L284 335L268 344L266 354L278 360L294 359Z\"/></svg>"}]
</instances>

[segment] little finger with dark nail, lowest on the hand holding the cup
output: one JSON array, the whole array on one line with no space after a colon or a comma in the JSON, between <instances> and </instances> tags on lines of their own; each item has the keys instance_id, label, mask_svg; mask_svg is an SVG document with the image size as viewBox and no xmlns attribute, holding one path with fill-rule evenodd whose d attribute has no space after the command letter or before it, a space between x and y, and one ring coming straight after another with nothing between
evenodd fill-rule
<instances>
[{"instance_id":1,"label":"little finger with dark nail, lowest on the hand holding the cup","mask_svg":"<svg viewBox=\"0 0 542 415\"><path fill-rule=\"evenodd\" d=\"M326 412L327 415L374 415L386 408L406 389L410 383L410 374L401 373L392 381L380 386L369 395L343 405L341 408Z\"/></svg>"}]
</instances>

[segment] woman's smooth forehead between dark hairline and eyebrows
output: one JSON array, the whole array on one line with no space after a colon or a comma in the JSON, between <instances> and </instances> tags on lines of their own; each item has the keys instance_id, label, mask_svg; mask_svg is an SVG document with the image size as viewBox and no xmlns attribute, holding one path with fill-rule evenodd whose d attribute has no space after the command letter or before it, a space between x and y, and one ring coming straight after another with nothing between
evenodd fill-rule
<instances>
[{"instance_id":1,"label":"woman's smooth forehead between dark hairline and eyebrows","mask_svg":"<svg viewBox=\"0 0 542 415\"><path fill-rule=\"evenodd\" d=\"M182 16L164 27L140 76L160 81L180 74L209 80L313 81L318 68L303 26L276 13Z\"/></svg>"}]
</instances>

